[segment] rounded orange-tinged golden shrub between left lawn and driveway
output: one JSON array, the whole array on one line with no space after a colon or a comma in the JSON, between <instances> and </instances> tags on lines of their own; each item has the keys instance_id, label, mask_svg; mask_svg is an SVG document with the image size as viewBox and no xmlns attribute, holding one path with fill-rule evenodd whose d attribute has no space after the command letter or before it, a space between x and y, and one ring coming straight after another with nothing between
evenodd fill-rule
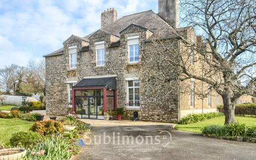
<instances>
[{"instance_id":1,"label":"rounded orange-tinged golden shrub between left lawn and driveway","mask_svg":"<svg viewBox=\"0 0 256 160\"><path fill-rule=\"evenodd\" d=\"M41 135L50 135L63 131L63 124L59 121L48 120L36 122L32 127L32 131L36 131Z\"/></svg>"}]
</instances>

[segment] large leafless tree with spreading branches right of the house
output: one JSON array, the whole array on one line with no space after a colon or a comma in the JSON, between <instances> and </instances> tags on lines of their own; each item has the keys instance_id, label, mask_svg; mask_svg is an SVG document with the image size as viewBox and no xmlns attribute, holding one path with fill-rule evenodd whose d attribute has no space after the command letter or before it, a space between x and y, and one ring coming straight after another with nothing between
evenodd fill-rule
<instances>
[{"instance_id":1,"label":"large leafless tree with spreading branches right of the house","mask_svg":"<svg viewBox=\"0 0 256 160\"><path fill-rule=\"evenodd\" d=\"M151 67L141 77L154 82L148 93L162 88L165 95L172 94L187 88L183 82L199 80L207 90L194 92L203 98L214 89L223 98L225 124L233 123L237 99L256 96L256 3L181 0L180 4L182 24L192 26L170 29L167 38L151 41L154 50L142 55ZM203 36L196 37L194 30Z\"/></svg>"}]
</instances>

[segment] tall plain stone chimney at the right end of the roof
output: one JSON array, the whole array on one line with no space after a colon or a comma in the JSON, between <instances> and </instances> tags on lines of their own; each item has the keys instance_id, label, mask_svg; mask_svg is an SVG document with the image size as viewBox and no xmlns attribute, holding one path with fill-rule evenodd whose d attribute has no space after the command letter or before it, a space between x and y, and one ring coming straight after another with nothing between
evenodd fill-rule
<instances>
[{"instance_id":1,"label":"tall plain stone chimney at the right end of the roof","mask_svg":"<svg viewBox=\"0 0 256 160\"><path fill-rule=\"evenodd\" d=\"M174 29L178 28L178 0L158 0L158 15Z\"/></svg>"}]
</instances>

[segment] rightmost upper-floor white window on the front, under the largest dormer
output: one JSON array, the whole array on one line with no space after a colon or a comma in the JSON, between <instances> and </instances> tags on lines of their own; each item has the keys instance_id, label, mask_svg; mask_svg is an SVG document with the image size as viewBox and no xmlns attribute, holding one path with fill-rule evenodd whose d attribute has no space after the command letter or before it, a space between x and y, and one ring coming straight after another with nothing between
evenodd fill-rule
<instances>
[{"instance_id":1,"label":"rightmost upper-floor white window on the front, under the largest dormer","mask_svg":"<svg viewBox=\"0 0 256 160\"><path fill-rule=\"evenodd\" d=\"M129 63L137 63L139 62L139 36L130 36L127 39Z\"/></svg>"}]
</instances>

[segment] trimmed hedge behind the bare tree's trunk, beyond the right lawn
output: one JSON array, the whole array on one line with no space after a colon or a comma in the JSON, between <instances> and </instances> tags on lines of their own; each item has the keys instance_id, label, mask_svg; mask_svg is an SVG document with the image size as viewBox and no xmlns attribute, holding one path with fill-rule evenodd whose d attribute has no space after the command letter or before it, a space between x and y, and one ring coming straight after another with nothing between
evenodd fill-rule
<instances>
[{"instance_id":1,"label":"trimmed hedge behind the bare tree's trunk, beyond the right lawn","mask_svg":"<svg viewBox=\"0 0 256 160\"><path fill-rule=\"evenodd\" d=\"M224 113L223 105L219 105L218 109L220 112ZM236 115L256 115L256 103L236 104L235 114Z\"/></svg>"}]
</instances>

